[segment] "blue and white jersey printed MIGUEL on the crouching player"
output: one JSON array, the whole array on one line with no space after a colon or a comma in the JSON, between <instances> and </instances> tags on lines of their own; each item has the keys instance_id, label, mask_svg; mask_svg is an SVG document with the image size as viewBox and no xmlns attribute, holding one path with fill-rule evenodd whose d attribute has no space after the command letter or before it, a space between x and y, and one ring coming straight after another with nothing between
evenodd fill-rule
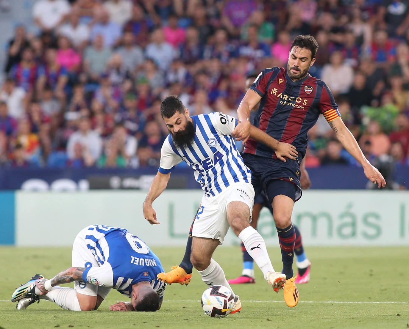
<instances>
[{"instance_id":1,"label":"blue and white jersey printed MIGUEL on the crouching player","mask_svg":"<svg viewBox=\"0 0 409 329\"><path fill-rule=\"evenodd\" d=\"M149 281L162 300L166 284L156 276L164 270L145 242L126 229L106 225L89 226L85 241L99 267L89 263L84 282L114 288L130 297L132 285Z\"/></svg>"}]
</instances>

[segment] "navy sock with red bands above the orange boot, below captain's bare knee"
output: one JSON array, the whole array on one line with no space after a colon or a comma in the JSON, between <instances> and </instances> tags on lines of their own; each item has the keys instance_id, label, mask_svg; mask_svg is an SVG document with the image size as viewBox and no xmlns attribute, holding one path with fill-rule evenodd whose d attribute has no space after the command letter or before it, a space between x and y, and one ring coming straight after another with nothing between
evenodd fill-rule
<instances>
[{"instance_id":1,"label":"navy sock with red bands above the orange boot, below captain's bare knee","mask_svg":"<svg viewBox=\"0 0 409 329\"><path fill-rule=\"evenodd\" d=\"M282 273L287 276L287 279L292 278L294 272L292 271L292 263L294 262L294 244L295 244L295 230L292 223L284 229L276 227L279 236L279 244L281 248L281 260L283 261Z\"/></svg>"}]
</instances>

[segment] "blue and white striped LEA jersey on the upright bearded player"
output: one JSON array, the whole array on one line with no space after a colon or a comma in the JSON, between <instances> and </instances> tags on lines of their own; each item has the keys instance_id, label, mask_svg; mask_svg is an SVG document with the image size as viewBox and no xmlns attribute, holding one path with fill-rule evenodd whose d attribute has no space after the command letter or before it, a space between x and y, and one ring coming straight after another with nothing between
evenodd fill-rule
<instances>
[{"instance_id":1,"label":"blue and white striped LEA jersey on the upright bearded player","mask_svg":"<svg viewBox=\"0 0 409 329\"><path fill-rule=\"evenodd\" d=\"M191 118L196 131L193 143L178 149L169 134L162 145L159 172L169 173L184 160L207 196L215 196L235 182L251 183L251 171L231 136L237 119L220 112Z\"/></svg>"}]
</instances>

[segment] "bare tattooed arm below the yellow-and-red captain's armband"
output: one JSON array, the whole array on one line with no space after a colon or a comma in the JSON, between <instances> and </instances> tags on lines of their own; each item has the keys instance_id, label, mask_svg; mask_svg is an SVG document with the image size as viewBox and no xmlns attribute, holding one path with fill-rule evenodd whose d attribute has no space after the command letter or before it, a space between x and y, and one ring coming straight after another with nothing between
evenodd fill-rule
<instances>
[{"instance_id":1,"label":"bare tattooed arm below the yellow-and-red captain's armband","mask_svg":"<svg viewBox=\"0 0 409 329\"><path fill-rule=\"evenodd\" d=\"M352 135L351 131L346 127L341 118L337 118L333 121L328 122L330 127L337 136L339 142L341 142L344 149L348 151L351 156L353 156L364 168L365 176L374 184L378 183L378 187L384 187L386 181L382 174L373 167L373 165L365 158L364 153L360 149L355 137Z\"/></svg>"}]
</instances>

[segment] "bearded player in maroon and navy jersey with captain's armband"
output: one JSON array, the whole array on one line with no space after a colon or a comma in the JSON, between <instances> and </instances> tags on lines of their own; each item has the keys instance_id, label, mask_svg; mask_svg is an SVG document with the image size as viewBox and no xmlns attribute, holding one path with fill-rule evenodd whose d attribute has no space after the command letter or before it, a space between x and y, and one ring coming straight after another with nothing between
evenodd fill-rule
<instances>
[{"instance_id":1,"label":"bearded player in maroon and navy jersey with captain's armband","mask_svg":"<svg viewBox=\"0 0 409 329\"><path fill-rule=\"evenodd\" d=\"M233 131L237 140L245 142L243 160L252 171L256 195L264 191L273 208L282 272L287 279L284 300L290 307L297 305L299 300L292 271L295 231L291 214L294 202L301 197L300 163L307 147L307 133L320 114L324 115L343 147L362 165L365 176L378 187L386 184L342 121L330 89L325 82L308 73L317 49L318 43L312 36L297 36L291 45L287 68L263 70L246 92L237 109L240 122ZM280 161L270 148L251 136L250 109L258 102L254 126L296 147L298 154L289 157L288 161Z\"/></svg>"}]
</instances>

